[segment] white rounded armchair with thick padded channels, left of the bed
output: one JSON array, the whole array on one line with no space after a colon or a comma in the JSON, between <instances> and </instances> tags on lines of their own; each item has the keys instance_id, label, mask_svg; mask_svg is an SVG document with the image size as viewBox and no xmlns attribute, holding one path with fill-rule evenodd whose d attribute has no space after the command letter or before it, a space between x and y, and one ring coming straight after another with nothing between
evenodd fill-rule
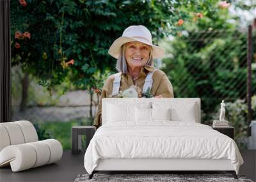
<instances>
[{"instance_id":1,"label":"white rounded armchair with thick padded channels, left of the bed","mask_svg":"<svg viewBox=\"0 0 256 182\"><path fill-rule=\"evenodd\" d=\"M0 123L0 167L11 166L13 172L56 162L63 149L58 140L38 141L29 121Z\"/></svg>"}]
</instances>

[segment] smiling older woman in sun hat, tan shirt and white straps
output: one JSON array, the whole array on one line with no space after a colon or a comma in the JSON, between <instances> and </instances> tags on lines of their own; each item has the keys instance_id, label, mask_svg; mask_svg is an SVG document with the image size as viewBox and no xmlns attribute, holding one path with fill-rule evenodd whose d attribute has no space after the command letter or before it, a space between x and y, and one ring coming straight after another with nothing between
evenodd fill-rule
<instances>
[{"instance_id":1,"label":"smiling older woman in sun hat, tan shirt and white straps","mask_svg":"<svg viewBox=\"0 0 256 182\"><path fill-rule=\"evenodd\" d=\"M152 36L145 26L129 26L109 48L117 59L118 73L110 75L102 88L101 99L115 96L132 85L154 98L173 98L173 87L166 74L154 68L153 59L164 56L164 49L152 44ZM101 125L101 99L94 118L94 126Z\"/></svg>"}]
</instances>

